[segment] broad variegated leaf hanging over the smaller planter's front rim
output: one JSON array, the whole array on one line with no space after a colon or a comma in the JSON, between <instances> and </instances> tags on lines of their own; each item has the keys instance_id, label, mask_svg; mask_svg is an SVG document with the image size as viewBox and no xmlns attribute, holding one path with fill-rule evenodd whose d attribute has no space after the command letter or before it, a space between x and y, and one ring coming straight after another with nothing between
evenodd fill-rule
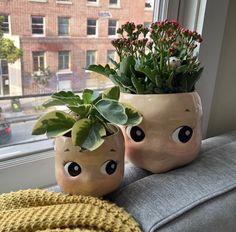
<instances>
[{"instance_id":1,"label":"broad variegated leaf hanging over the smaller planter's front rim","mask_svg":"<svg viewBox=\"0 0 236 232\"><path fill-rule=\"evenodd\" d=\"M72 143L93 151L102 145L102 137L105 135L106 130L101 124L93 123L90 119L81 119L72 128Z\"/></svg>"}]
</instances>

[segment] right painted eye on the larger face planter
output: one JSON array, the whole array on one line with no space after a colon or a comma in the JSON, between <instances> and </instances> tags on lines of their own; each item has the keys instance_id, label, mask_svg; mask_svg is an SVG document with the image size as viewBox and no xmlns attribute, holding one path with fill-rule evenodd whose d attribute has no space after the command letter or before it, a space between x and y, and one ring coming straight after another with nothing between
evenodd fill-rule
<instances>
[{"instance_id":1,"label":"right painted eye on the larger face planter","mask_svg":"<svg viewBox=\"0 0 236 232\"><path fill-rule=\"evenodd\" d=\"M189 126L178 127L172 134L172 139L177 143L187 143L193 135L193 129Z\"/></svg>"}]
</instances>

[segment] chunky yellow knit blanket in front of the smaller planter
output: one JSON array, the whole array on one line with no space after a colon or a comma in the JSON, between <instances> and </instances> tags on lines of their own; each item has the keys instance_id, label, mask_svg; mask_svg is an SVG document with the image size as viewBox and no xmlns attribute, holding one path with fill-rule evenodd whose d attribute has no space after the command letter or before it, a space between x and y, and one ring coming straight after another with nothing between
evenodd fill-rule
<instances>
[{"instance_id":1,"label":"chunky yellow knit blanket in front of the smaller planter","mask_svg":"<svg viewBox=\"0 0 236 232\"><path fill-rule=\"evenodd\" d=\"M134 219L115 204L94 197L45 190L0 195L1 232L140 232Z\"/></svg>"}]
</instances>

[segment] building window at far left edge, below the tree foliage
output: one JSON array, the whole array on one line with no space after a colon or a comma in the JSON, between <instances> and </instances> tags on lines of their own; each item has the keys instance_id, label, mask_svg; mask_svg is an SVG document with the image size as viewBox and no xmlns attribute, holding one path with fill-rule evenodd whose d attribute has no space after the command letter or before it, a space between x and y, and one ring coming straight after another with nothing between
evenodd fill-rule
<instances>
[{"instance_id":1,"label":"building window at far left edge, below the tree foliage","mask_svg":"<svg viewBox=\"0 0 236 232\"><path fill-rule=\"evenodd\" d=\"M9 95L9 90L8 63L0 60L0 96Z\"/></svg>"}]
</instances>

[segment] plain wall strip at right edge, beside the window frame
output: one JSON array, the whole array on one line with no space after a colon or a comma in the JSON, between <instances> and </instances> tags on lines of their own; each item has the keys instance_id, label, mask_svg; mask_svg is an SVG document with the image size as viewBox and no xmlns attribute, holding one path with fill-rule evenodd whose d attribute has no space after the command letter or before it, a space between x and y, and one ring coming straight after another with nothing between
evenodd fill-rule
<instances>
[{"instance_id":1,"label":"plain wall strip at right edge, beside the window frame","mask_svg":"<svg viewBox=\"0 0 236 232\"><path fill-rule=\"evenodd\" d=\"M207 137L236 129L236 1L230 0ZM220 15L219 15L220 17Z\"/></svg>"}]
</instances>

